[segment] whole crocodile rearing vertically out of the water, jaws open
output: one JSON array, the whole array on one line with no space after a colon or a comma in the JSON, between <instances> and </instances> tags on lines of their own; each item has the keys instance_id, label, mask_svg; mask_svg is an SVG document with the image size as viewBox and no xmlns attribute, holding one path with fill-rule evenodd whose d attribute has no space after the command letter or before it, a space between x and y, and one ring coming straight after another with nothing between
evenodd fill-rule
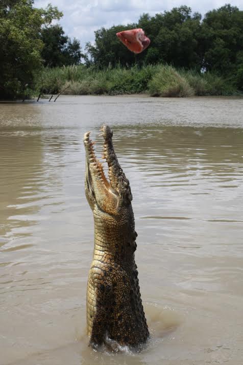
<instances>
[{"instance_id":1,"label":"whole crocodile rearing vertically out of the water, jaws open","mask_svg":"<svg viewBox=\"0 0 243 365\"><path fill-rule=\"evenodd\" d=\"M84 134L86 151L85 195L93 212L94 250L87 284L87 334L90 345L113 341L117 346L137 347L147 341L137 265L136 237L129 180L118 163L109 126L101 129L105 176L95 156L90 132Z\"/></svg>"}]
</instances>

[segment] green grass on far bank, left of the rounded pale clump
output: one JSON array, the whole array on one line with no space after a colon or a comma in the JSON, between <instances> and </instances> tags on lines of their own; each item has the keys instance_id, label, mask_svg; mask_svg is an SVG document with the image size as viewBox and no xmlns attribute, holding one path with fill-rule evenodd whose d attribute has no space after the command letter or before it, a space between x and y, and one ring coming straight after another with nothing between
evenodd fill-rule
<instances>
[{"instance_id":1,"label":"green grass on far bank, left of the rounded pale clump","mask_svg":"<svg viewBox=\"0 0 243 365\"><path fill-rule=\"evenodd\" d=\"M97 70L84 65L45 68L37 75L37 88L44 93L57 93L69 85L68 94L134 94L147 89L148 82L157 66L147 66L139 69L137 66L127 69L115 67Z\"/></svg>"}]
</instances>

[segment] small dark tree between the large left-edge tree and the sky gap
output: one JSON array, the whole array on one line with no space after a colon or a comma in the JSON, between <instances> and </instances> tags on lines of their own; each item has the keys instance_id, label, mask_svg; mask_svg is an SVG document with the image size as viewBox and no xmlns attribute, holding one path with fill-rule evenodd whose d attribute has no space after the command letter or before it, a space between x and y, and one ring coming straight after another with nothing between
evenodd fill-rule
<instances>
[{"instance_id":1,"label":"small dark tree between the large left-edge tree and the sky gap","mask_svg":"<svg viewBox=\"0 0 243 365\"><path fill-rule=\"evenodd\" d=\"M64 35L60 25L45 26L41 30L41 40L44 47L41 52L45 66L56 67L69 64L78 64L82 57L80 42L73 41Z\"/></svg>"}]
</instances>

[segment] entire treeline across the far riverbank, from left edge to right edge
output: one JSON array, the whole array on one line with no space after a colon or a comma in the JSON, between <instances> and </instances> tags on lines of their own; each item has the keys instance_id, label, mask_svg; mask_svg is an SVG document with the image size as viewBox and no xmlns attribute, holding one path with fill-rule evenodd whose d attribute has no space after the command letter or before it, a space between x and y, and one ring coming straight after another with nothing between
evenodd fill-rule
<instances>
[{"instance_id":1,"label":"entire treeline across the far riverbank, from left edge to right edge","mask_svg":"<svg viewBox=\"0 0 243 365\"><path fill-rule=\"evenodd\" d=\"M107 81L112 68L118 75L121 73L120 70L124 70L125 74L126 70L132 67L133 71L137 70L137 77L139 70L143 70L143 75L150 70L148 71L150 77L146 79L148 86L149 81L153 79L151 70L158 71L160 67L160 73L163 69L164 76L169 70L172 72L176 69L175 72L184 77L183 73L189 75L187 71L191 70L191 75L197 75L198 81L200 77L204 85L207 84L202 95L212 94L212 88L209 87L212 78L221 79L223 80L221 82L227 85L224 87L226 91L218 94L229 94L230 90L236 89L243 91L243 11L237 7L227 4L209 11L203 18L199 13L192 14L187 6L173 8L155 16L142 14L136 24L118 25L95 31L95 42L94 44L88 42L85 51L82 51L77 39L71 40L64 34L60 25L52 25L52 20L60 19L61 16L62 13L51 5L46 9L34 8L33 0L1 0L1 99L28 97L37 89L43 93L47 89L51 91L50 87L45 85L45 76L51 75L50 70L53 67L63 69L62 66L78 65L81 61L83 66L80 65L79 70L82 69L83 73L86 69L86 75L92 75L88 77L88 81L86 80L87 85L94 82L90 81L90 77L93 79L101 77L102 70L106 75L102 77ZM135 27L142 28L151 39L150 47L136 56L128 51L115 35L121 30ZM158 65L157 69L155 65ZM168 66L171 66L171 69ZM44 70L44 67L48 69ZM60 84L56 87L56 91L60 91L65 82L71 82L72 85L74 82L81 83L81 79L63 78L61 69L60 71L55 69L57 78L53 85ZM70 67L68 70L71 70ZM130 76L132 74L131 71ZM177 76L176 79L179 80ZM164 78L160 80L164 82L162 81ZM113 81L109 82L111 85ZM134 82L131 80L132 89ZM55 91L54 89L55 87L52 91ZM92 87L87 89L89 94L92 94ZM113 93L112 87L108 89L108 93ZM139 90L137 87L134 92ZM123 88L120 88L119 93L121 92ZM193 93L197 94L195 89ZM155 92L154 95L163 93Z\"/></svg>"}]
</instances>

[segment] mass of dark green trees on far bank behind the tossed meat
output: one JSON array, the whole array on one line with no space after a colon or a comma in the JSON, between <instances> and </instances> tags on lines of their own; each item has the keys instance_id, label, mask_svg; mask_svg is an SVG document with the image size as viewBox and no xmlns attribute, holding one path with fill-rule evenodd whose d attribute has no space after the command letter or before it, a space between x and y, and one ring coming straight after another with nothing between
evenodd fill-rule
<instances>
[{"instance_id":1,"label":"mass of dark green trees on far bank behind the tossed meat","mask_svg":"<svg viewBox=\"0 0 243 365\"><path fill-rule=\"evenodd\" d=\"M243 11L237 7L226 4L209 11L202 20L201 14L192 14L183 5L155 16L142 14L137 27L151 39L147 50L135 56L115 36L116 32L135 28L134 24L102 28L95 32L94 45L86 45L88 64L104 68L166 63L198 73L209 71L243 89ZM199 83L198 93L206 95L206 80L199 81L195 76L193 80Z\"/></svg>"}]
</instances>

